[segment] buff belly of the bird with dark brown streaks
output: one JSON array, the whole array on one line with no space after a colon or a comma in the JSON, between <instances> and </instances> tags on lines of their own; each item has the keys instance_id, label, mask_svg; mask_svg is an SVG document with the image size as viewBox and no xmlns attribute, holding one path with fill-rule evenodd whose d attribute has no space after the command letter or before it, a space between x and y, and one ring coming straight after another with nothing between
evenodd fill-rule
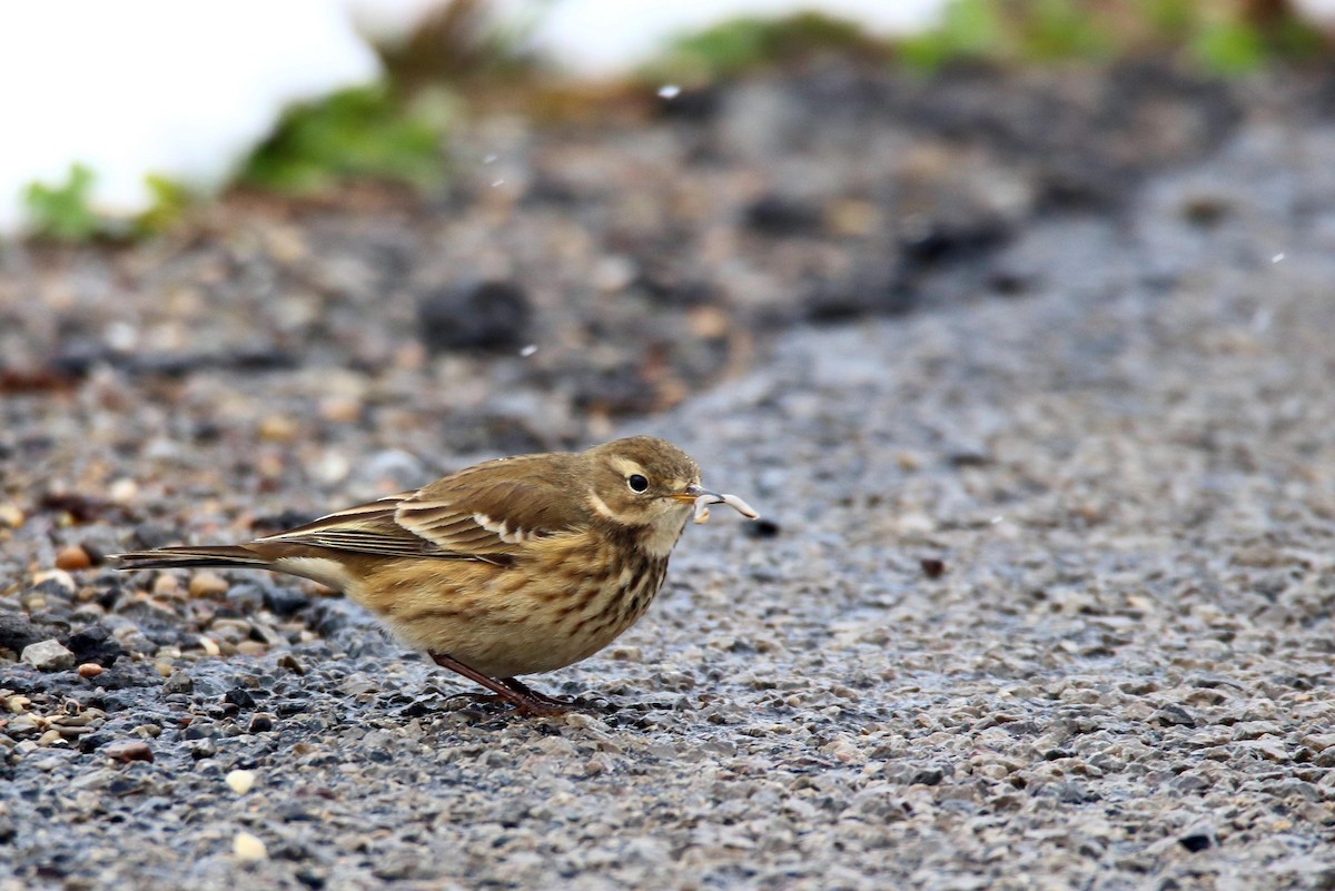
<instances>
[{"instance_id":1,"label":"buff belly of the bird with dark brown streaks","mask_svg":"<svg viewBox=\"0 0 1335 891\"><path fill-rule=\"evenodd\" d=\"M555 555L554 555L555 556ZM633 626L662 586L666 559L553 559L502 571L490 564L423 562L366 606L410 647L449 655L493 678L553 671L587 659ZM483 568L479 568L483 567ZM433 572L435 570L435 572ZM392 596L383 592L394 591Z\"/></svg>"}]
</instances>

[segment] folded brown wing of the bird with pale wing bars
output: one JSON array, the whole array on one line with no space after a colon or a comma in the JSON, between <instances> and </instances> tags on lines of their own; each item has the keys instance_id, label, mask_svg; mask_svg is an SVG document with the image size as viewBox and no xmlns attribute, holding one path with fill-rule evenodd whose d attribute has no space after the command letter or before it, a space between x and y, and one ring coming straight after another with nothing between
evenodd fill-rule
<instances>
[{"instance_id":1,"label":"folded brown wing of the bird with pale wing bars","mask_svg":"<svg viewBox=\"0 0 1335 891\"><path fill-rule=\"evenodd\" d=\"M523 542L581 528L587 510L529 459L489 462L415 492L322 516L256 544L378 556L505 562Z\"/></svg>"}]
</instances>

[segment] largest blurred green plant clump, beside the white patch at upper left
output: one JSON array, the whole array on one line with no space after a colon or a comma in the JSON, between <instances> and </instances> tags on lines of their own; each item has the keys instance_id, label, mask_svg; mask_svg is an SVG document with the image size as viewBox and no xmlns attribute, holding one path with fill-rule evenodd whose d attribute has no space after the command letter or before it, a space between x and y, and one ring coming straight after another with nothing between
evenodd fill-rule
<instances>
[{"instance_id":1,"label":"largest blurred green plant clump, beside the white patch at upper left","mask_svg":"<svg viewBox=\"0 0 1335 891\"><path fill-rule=\"evenodd\" d=\"M442 89L411 97L384 84L343 89L291 108L242 179L299 193L348 179L431 188L445 180L442 143L453 116L454 100Z\"/></svg>"}]
</instances>

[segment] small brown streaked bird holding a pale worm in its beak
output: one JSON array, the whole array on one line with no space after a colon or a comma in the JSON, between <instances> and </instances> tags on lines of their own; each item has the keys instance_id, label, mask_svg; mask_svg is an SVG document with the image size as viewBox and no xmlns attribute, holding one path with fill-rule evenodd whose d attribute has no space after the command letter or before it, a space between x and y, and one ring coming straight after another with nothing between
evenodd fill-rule
<instances>
[{"instance_id":1,"label":"small brown streaked bird holding a pale worm in its beak","mask_svg":"<svg viewBox=\"0 0 1335 891\"><path fill-rule=\"evenodd\" d=\"M270 570L314 579L402 643L521 714L573 704L521 675L594 655L649 608L686 520L708 504L758 514L701 487L700 467L654 436L582 452L499 458L419 490L244 544L116 555L121 571Z\"/></svg>"}]
</instances>

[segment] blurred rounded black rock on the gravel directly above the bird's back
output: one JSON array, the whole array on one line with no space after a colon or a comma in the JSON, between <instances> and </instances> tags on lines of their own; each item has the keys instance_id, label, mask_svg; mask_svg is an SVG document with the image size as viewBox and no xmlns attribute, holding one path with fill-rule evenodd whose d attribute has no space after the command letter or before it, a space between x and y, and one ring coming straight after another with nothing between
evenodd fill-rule
<instances>
[{"instance_id":1,"label":"blurred rounded black rock on the gravel directly above the bird's back","mask_svg":"<svg viewBox=\"0 0 1335 891\"><path fill-rule=\"evenodd\" d=\"M527 292L513 281L474 281L418 300L418 337L431 352L518 349L529 341Z\"/></svg>"}]
</instances>

